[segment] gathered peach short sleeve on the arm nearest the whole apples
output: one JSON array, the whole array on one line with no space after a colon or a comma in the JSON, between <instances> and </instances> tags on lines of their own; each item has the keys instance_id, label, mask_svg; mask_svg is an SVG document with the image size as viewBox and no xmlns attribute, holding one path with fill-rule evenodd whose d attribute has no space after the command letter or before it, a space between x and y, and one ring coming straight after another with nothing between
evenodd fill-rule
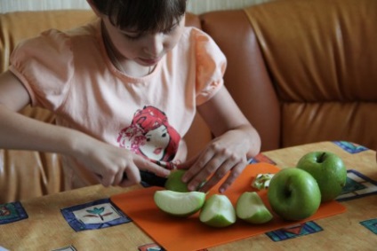
<instances>
[{"instance_id":1,"label":"gathered peach short sleeve on the arm nearest the whole apples","mask_svg":"<svg viewBox=\"0 0 377 251\"><path fill-rule=\"evenodd\" d=\"M224 84L223 75L227 67L227 59L213 39L200 30L197 34L197 106L202 105L214 96Z\"/></svg>"}]
</instances>

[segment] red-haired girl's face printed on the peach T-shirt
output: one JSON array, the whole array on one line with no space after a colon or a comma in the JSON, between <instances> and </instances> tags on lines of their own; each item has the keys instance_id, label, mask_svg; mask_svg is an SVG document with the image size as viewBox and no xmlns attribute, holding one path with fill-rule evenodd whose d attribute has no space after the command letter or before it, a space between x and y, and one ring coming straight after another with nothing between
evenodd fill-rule
<instances>
[{"instance_id":1,"label":"red-haired girl's face printed on the peach T-shirt","mask_svg":"<svg viewBox=\"0 0 377 251\"><path fill-rule=\"evenodd\" d=\"M133 114L132 124L117 137L120 147L153 161L172 161L178 150L180 134L167 116L154 106L144 106Z\"/></svg>"}]
</instances>

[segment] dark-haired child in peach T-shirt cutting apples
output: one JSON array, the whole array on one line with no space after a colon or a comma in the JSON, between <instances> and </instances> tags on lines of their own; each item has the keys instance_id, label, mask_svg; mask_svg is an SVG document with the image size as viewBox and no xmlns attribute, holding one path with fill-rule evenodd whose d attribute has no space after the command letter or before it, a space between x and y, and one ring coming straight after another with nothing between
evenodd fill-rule
<instances>
[{"instance_id":1,"label":"dark-haired child in peach T-shirt cutting apples","mask_svg":"<svg viewBox=\"0 0 377 251\"><path fill-rule=\"evenodd\" d=\"M88 0L98 20L21 43L0 75L0 147L62 153L68 188L140 182L140 170L224 192L260 137L223 86L226 59L184 27L186 0ZM57 125L17 114L31 104ZM196 112L215 138L193 160L181 138ZM213 175L213 176L212 176ZM211 177L210 177L211 176Z\"/></svg>"}]
</instances>

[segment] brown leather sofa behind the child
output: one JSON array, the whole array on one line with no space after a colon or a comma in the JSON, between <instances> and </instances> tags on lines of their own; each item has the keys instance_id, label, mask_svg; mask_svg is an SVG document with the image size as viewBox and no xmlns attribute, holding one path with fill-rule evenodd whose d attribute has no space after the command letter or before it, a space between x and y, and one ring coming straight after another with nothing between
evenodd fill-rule
<instances>
[{"instance_id":1,"label":"brown leather sofa behind the child","mask_svg":"<svg viewBox=\"0 0 377 251\"><path fill-rule=\"evenodd\" d=\"M262 151L324 140L377 148L377 1L277 0L245 10L189 15L220 45L225 83L259 130ZM93 18L89 11L0 15L0 71L21 39ZM27 107L30 117L53 115ZM198 116L189 155L211 139ZM55 153L0 150L0 203L64 191Z\"/></svg>"}]
</instances>

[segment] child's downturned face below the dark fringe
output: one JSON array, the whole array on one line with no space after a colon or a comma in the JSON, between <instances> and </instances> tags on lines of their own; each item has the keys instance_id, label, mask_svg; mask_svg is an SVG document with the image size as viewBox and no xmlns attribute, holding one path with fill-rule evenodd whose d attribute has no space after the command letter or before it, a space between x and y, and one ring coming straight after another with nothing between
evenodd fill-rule
<instances>
[{"instance_id":1,"label":"child's downturned face below the dark fringe","mask_svg":"<svg viewBox=\"0 0 377 251\"><path fill-rule=\"evenodd\" d=\"M185 17L170 30L161 33L140 33L135 30L121 30L114 27L107 17L103 18L109 39L124 59L132 60L144 67L156 63L179 42Z\"/></svg>"}]
</instances>

